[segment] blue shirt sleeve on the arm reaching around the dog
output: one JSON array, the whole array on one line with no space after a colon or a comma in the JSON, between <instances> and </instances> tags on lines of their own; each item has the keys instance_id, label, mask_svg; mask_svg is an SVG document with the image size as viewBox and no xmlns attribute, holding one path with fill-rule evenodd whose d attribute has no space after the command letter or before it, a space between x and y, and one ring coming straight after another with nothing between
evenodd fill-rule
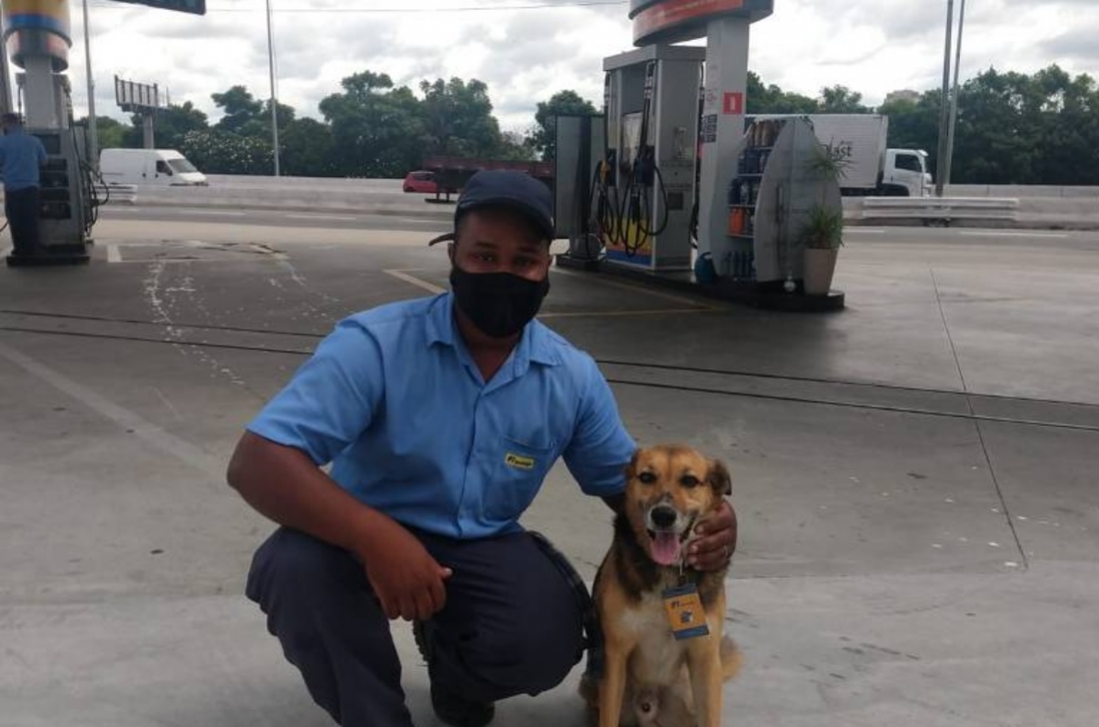
<instances>
[{"instance_id":1,"label":"blue shirt sleeve on the arm reaching around the dog","mask_svg":"<svg viewBox=\"0 0 1099 727\"><path fill-rule=\"evenodd\" d=\"M625 467L637 448L619 416L610 384L588 359L585 393L563 458L585 494L608 497L625 490Z\"/></svg>"}]
</instances>

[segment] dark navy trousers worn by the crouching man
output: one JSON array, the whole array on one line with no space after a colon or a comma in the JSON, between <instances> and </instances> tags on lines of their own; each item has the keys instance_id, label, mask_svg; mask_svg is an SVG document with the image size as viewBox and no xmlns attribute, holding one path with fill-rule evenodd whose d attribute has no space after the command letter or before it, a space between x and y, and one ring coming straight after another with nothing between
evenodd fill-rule
<instances>
[{"instance_id":1,"label":"dark navy trousers worn by the crouching man","mask_svg":"<svg viewBox=\"0 0 1099 727\"><path fill-rule=\"evenodd\" d=\"M535 695L564 681L584 656L585 609L560 563L533 535L454 540L413 534L454 571L446 606L432 622L433 679L479 702ZM338 725L412 725L390 622L354 556L281 527L256 551L246 593L310 695Z\"/></svg>"}]
</instances>

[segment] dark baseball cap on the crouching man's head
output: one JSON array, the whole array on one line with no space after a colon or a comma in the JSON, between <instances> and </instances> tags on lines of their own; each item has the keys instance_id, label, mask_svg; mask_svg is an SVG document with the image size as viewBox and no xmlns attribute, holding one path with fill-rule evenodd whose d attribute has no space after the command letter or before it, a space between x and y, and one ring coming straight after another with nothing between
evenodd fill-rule
<instances>
[{"instance_id":1,"label":"dark baseball cap on the crouching man's head","mask_svg":"<svg viewBox=\"0 0 1099 727\"><path fill-rule=\"evenodd\" d=\"M547 241L556 236L553 220L553 194L550 188L525 171L513 169L482 169L469 178L458 205L454 210L454 228L458 220L470 210L485 206L504 206L523 214ZM454 239L448 232L432 239L429 245Z\"/></svg>"}]
</instances>

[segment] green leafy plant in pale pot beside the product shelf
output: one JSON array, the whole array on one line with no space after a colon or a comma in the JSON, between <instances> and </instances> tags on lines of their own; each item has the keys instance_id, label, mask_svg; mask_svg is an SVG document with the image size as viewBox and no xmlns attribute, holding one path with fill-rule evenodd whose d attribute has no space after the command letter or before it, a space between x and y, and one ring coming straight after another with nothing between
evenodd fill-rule
<instances>
[{"instance_id":1,"label":"green leafy plant in pale pot beside the product shelf","mask_svg":"<svg viewBox=\"0 0 1099 727\"><path fill-rule=\"evenodd\" d=\"M801 227L803 280L807 295L826 295L832 290L835 261L843 246L843 201L840 179L851 166L850 144L824 144L809 159L810 172L820 180L818 201Z\"/></svg>"}]
</instances>

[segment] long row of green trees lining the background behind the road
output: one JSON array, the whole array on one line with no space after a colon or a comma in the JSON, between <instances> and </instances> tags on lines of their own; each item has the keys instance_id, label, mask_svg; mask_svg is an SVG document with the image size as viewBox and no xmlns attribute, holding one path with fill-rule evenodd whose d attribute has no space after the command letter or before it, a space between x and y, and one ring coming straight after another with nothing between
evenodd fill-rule
<instances>
[{"instance_id":1,"label":"long row of green trees lining the background behind the road","mask_svg":"<svg viewBox=\"0 0 1099 727\"><path fill-rule=\"evenodd\" d=\"M500 130L489 89L477 79L423 80L414 88L365 70L345 78L340 90L321 102L322 120L298 119L291 107L279 104L286 174L400 178L435 155L552 160L554 118L598 113L576 91L559 91L537 104L523 138ZM872 109L862 94L844 86L823 88L810 98L764 83L750 72L746 111L882 113L889 116L889 146L924 149L935 169L941 97L941 91L929 90L915 101ZM270 174L270 102L244 86L212 98L223 114L212 127L190 102L158 112L156 145L180 150L187 139L200 149L221 145L232 149L232 160L191 160L211 172L247 168L254 169L251 174ZM140 119L127 125L101 118L98 127L101 147L142 145ZM218 134L207 134L211 131ZM197 132L203 133L192 136ZM235 137L251 142L236 144ZM1099 186L1096 80L1073 77L1058 66L1032 75L989 69L970 79L959 94L952 176L955 183Z\"/></svg>"}]
</instances>

